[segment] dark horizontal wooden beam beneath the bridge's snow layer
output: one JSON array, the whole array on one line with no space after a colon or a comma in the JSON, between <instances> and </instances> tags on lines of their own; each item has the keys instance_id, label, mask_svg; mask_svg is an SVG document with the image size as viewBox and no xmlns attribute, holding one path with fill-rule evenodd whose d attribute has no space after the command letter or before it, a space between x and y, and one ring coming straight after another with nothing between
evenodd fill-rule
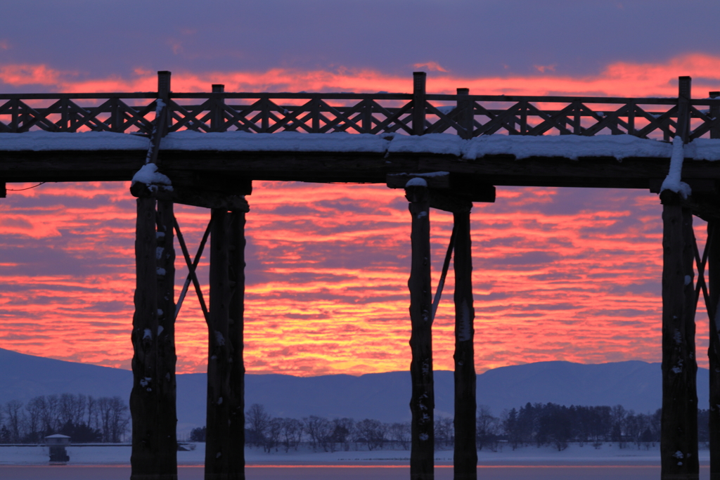
<instances>
[{"instance_id":1,"label":"dark horizontal wooden beam beneath the bridge's snow layer","mask_svg":"<svg viewBox=\"0 0 720 480\"><path fill-rule=\"evenodd\" d=\"M0 180L127 181L145 162L144 150L0 152ZM496 186L578 186L649 189L665 178L668 158L532 157L416 153L288 153L161 150L161 170L172 180L208 183L207 176L248 180L384 184L389 173L449 171L487 178ZM205 176L205 177L204 177ZM683 179L720 180L720 163L685 160ZM229 192L228 192L229 193Z\"/></svg>"}]
</instances>

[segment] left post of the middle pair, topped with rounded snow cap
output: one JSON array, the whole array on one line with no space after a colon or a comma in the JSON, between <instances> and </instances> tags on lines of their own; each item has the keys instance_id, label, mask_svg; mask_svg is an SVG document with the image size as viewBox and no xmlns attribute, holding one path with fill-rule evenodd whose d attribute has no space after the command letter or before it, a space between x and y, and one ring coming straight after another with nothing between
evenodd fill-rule
<instances>
[{"instance_id":1,"label":"left post of the middle pair, topped with rounded snow cap","mask_svg":"<svg viewBox=\"0 0 720 480\"><path fill-rule=\"evenodd\" d=\"M425 181L414 178L405 186L405 197L410 201L413 217L412 267L410 270L410 376L413 381L413 397L410 412L412 450L410 451L410 479L433 480L435 435L433 409L432 309L433 296L430 279L430 195Z\"/></svg>"}]
</instances>

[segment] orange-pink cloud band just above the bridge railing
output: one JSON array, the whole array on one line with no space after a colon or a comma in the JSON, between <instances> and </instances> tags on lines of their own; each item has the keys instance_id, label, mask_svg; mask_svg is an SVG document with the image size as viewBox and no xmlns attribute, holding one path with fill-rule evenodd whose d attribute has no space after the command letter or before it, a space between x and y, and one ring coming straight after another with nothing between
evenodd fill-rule
<instances>
[{"instance_id":1,"label":"orange-pink cloud band just above the bridge railing","mask_svg":"<svg viewBox=\"0 0 720 480\"><path fill-rule=\"evenodd\" d=\"M516 95L598 95L598 96L676 96L678 76L696 77L695 96L704 97L708 90L720 89L720 57L690 53L664 63L626 63L607 65L597 76L557 75L552 65L540 65L541 75L492 76L469 78L453 76L437 63L416 64L442 75L428 76L428 92L453 93L469 88L471 94ZM78 72L57 71L48 65L5 65L0 81L19 87L41 84L58 91L153 91L153 72L136 69L133 76L91 78ZM273 68L268 71L182 72L173 75L174 91L210 91L212 83L225 84L226 91L397 91L412 89L410 72L393 76L372 70L341 68L338 71L297 71Z\"/></svg>"}]
</instances>

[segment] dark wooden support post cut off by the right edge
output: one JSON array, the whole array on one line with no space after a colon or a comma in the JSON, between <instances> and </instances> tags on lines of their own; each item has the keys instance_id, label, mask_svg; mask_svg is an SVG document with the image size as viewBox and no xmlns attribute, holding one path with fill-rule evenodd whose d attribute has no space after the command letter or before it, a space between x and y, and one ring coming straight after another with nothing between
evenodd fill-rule
<instances>
[{"instance_id":1,"label":"dark wooden support post cut off by the right edge","mask_svg":"<svg viewBox=\"0 0 720 480\"><path fill-rule=\"evenodd\" d=\"M720 480L720 219L708 219L708 277L711 312L710 346L710 479Z\"/></svg>"}]
</instances>

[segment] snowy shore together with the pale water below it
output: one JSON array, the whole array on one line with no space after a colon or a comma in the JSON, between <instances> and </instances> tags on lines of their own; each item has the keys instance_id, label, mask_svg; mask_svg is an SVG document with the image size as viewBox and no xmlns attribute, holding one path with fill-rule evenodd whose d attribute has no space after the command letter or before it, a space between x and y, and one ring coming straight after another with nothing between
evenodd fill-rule
<instances>
[{"instance_id":1,"label":"snowy shore together with the pale water below it","mask_svg":"<svg viewBox=\"0 0 720 480\"><path fill-rule=\"evenodd\" d=\"M48 465L43 447L0 447L0 479L3 480L114 480L130 478L130 447L70 447L71 461L64 466ZM178 452L179 479L202 479L204 444ZM400 480L410 476L406 450L312 453L264 453L246 449L248 480ZM708 450L700 451L701 480L709 478ZM452 478L452 452L436 453L436 479ZM558 452L552 448L525 447L479 453L478 478L487 480L583 479L644 480L660 477L657 446L649 450L620 449L605 444L600 449L585 444L570 445Z\"/></svg>"}]
</instances>

